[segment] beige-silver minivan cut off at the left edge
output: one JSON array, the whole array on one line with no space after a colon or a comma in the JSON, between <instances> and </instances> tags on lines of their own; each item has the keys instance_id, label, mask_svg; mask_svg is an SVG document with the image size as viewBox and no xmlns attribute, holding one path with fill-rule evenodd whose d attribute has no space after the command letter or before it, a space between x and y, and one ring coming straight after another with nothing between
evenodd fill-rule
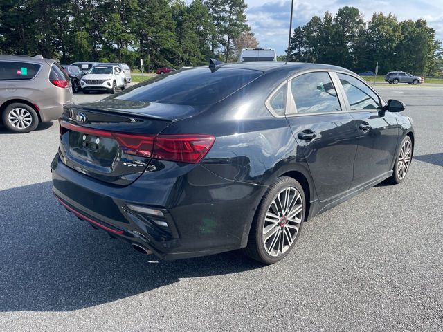
<instances>
[{"instance_id":1,"label":"beige-silver minivan cut off at the left edge","mask_svg":"<svg viewBox=\"0 0 443 332\"><path fill-rule=\"evenodd\" d=\"M10 131L28 133L60 118L72 96L71 81L55 60L0 55L0 115Z\"/></svg>"}]
</instances>

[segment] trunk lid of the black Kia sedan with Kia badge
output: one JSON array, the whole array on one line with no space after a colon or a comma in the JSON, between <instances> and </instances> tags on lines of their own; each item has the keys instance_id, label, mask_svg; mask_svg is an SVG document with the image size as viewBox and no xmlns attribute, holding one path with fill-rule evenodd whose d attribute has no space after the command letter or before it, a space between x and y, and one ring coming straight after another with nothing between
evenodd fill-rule
<instances>
[{"instance_id":1,"label":"trunk lid of the black Kia sedan with Kia badge","mask_svg":"<svg viewBox=\"0 0 443 332\"><path fill-rule=\"evenodd\" d=\"M149 165L154 137L177 119L154 115L165 109L161 104L114 102L110 106L96 102L65 107L59 154L65 165L82 174L129 185ZM188 107L174 105L174 109L183 114Z\"/></svg>"}]
</instances>

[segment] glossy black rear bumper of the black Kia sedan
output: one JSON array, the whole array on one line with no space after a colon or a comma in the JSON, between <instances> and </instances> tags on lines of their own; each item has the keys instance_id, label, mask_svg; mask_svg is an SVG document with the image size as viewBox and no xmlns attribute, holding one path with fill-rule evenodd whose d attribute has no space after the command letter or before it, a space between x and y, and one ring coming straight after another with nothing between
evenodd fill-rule
<instances>
[{"instance_id":1,"label":"glossy black rear bumper of the black Kia sedan","mask_svg":"<svg viewBox=\"0 0 443 332\"><path fill-rule=\"evenodd\" d=\"M163 170L145 172L131 185L119 187L66 167L56 155L51 164L53 192L80 219L163 259L246 246L265 186L226 180L201 165L163 164ZM156 225L155 216L139 214L128 205L161 210L168 227Z\"/></svg>"}]
</instances>

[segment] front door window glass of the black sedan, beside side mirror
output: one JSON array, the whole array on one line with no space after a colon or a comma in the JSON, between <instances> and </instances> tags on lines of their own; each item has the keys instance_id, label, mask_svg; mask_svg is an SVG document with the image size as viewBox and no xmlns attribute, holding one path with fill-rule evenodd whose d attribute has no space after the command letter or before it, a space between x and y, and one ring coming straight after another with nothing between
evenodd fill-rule
<instances>
[{"instance_id":1,"label":"front door window glass of the black sedan, beside side mirror","mask_svg":"<svg viewBox=\"0 0 443 332\"><path fill-rule=\"evenodd\" d=\"M352 111L379 109L379 97L369 87L355 77L338 73Z\"/></svg>"}]
</instances>

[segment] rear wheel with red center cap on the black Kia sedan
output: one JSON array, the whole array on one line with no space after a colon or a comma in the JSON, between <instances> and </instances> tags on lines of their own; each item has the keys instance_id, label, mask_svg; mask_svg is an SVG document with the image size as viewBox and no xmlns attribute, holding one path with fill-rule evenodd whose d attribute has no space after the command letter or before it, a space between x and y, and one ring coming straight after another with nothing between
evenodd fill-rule
<instances>
[{"instance_id":1,"label":"rear wheel with red center cap on the black Kia sedan","mask_svg":"<svg viewBox=\"0 0 443 332\"><path fill-rule=\"evenodd\" d=\"M284 203L278 205L279 200ZM278 178L257 208L244 253L262 264L274 264L286 257L298 240L305 211L305 193L300 183L287 176Z\"/></svg>"}]
</instances>

